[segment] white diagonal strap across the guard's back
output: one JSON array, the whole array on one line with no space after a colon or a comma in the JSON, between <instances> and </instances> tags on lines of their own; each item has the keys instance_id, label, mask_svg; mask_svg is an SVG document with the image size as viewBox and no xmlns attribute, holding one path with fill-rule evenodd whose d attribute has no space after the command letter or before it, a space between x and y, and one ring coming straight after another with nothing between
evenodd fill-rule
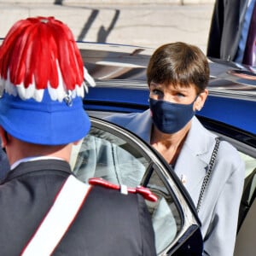
<instances>
[{"instance_id":1,"label":"white diagonal strap across the guard's back","mask_svg":"<svg viewBox=\"0 0 256 256\"><path fill-rule=\"evenodd\" d=\"M61 241L83 205L91 186L70 175L55 203L24 247L22 256L48 256Z\"/></svg>"}]
</instances>

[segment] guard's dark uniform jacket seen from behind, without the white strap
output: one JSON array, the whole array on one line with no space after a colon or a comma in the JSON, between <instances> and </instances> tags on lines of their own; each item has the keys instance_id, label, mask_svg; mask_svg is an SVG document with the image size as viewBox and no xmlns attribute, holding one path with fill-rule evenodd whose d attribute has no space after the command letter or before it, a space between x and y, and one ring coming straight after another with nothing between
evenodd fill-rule
<instances>
[{"instance_id":1,"label":"guard's dark uniform jacket seen from behind, without the white strap","mask_svg":"<svg viewBox=\"0 0 256 256\"><path fill-rule=\"evenodd\" d=\"M70 174L62 160L24 162L9 172L0 185L0 255L20 255ZM155 255L143 197L94 186L53 255Z\"/></svg>"}]
</instances>

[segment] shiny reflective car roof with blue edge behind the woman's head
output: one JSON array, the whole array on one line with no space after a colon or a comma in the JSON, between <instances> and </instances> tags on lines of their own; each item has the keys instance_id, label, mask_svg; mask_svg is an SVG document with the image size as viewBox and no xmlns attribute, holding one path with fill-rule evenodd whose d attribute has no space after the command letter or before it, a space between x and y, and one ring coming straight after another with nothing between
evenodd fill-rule
<instances>
[{"instance_id":1,"label":"shiny reflective car roof with blue edge behind the woman's head","mask_svg":"<svg viewBox=\"0 0 256 256\"><path fill-rule=\"evenodd\" d=\"M154 49L120 44L78 44L84 65L98 87L90 89L87 101L148 106L146 68ZM256 69L218 59L209 59L209 67L209 96L198 114L256 134Z\"/></svg>"}]
</instances>

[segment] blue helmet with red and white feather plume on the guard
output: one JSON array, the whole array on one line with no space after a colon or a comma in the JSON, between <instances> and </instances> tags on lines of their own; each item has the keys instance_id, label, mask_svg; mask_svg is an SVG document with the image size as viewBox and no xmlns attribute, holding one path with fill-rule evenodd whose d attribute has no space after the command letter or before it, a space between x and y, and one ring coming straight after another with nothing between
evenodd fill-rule
<instances>
[{"instance_id":1,"label":"blue helmet with red and white feather plume on the guard","mask_svg":"<svg viewBox=\"0 0 256 256\"><path fill-rule=\"evenodd\" d=\"M85 81L95 85L65 24L54 17L17 21L0 47L0 125L28 143L79 140L90 130Z\"/></svg>"}]
</instances>

